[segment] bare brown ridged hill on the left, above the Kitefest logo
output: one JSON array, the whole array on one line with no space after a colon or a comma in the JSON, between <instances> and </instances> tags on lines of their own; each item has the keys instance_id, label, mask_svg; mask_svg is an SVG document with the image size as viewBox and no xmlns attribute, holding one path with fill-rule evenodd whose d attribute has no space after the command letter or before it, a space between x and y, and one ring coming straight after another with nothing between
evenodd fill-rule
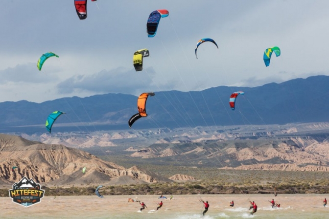
<instances>
[{"instance_id":1,"label":"bare brown ridged hill on the left, above the Kitefest logo","mask_svg":"<svg viewBox=\"0 0 329 219\"><path fill-rule=\"evenodd\" d=\"M14 166L17 168L12 170ZM83 167L87 168L85 174ZM136 166L125 169L64 145L0 134L0 183L11 184L24 176L56 185L107 183L119 177L144 183L170 181Z\"/></svg>"}]
</instances>

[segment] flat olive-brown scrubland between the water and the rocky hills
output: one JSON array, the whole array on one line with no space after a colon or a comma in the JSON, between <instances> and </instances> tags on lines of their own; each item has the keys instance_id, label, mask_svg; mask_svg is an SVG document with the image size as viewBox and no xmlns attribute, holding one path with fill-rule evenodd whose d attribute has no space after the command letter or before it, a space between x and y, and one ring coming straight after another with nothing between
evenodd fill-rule
<instances>
[{"instance_id":1,"label":"flat olive-brown scrubland between the water and the rocky hills","mask_svg":"<svg viewBox=\"0 0 329 219\"><path fill-rule=\"evenodd\" d=\"M193 176L197 180L153 184L109 185L101 188L102 195L187 195L187 194L278 194L328 193L329 173L298 171L219 170L186 166L142 166L170 177L176 173ZM43 185L46 196L94 195L97 185L71 187ZM0 189L1 197L8 197L8 189Z\"/></svg>"}]
</instances>

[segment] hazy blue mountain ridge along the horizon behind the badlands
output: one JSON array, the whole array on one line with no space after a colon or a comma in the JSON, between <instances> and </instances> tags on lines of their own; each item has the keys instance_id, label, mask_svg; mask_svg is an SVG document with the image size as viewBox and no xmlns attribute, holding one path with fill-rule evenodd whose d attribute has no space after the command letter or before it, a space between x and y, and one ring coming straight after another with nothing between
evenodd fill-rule
<instances>
[{"instance_id":1,"label":"hazy blue mountain ridge along the horizon behind the badlands","mask_svg":"<svg viewBox=\"0 0 329 219\"><path fill-rule=\"evenodd\" d=\"M252 88L219 86L203 91L155 92L147 100L148 117L139 119L133 128L329 121L329 101L325 101L329 99L328 84L329 76L313 76ZM233 111L229 97L240 90L245 94L237 97ZM136 103L136 96L125 94L42 103L1 102L0 132L46 132L47 116L57 110L66 114L57 119L54 132L128 129L128 119L137 112Z\"/></svg>"}]
</instances>

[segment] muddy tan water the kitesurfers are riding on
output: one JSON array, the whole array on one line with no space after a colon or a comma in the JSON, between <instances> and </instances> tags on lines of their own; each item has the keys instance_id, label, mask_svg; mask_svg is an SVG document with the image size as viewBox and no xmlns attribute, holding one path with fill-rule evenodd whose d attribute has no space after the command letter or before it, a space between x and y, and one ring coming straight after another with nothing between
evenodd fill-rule
<instances>
[{"instance_id":1,"label":"muddy tan water the kitesurfers are riding on","mask_svg":"<svg viewBox=\"0 0 329 219\"><path fill-rule=\"evenodd\" d=\"M167 197L169 197L168 195ZM144 201L147 209L139 213L138 202L128 202L128 198ZM45 197L40 203L28 208L13 203L9 197L0 198L1 219L194 219L201 217L203 204L198 199L208 200L209 211L205 219L212 218L326 218L328 207L323 207L322 200L328 194L307 195L174 195L174 199L158 199L158 196L59 196ZM254 200L258 212L249 214L249 201ZM280 209L272 209L268 200L274 199L281 204ZM163 200L164 205L155 211L156 202ZM229 207L234 200L235 206Z\"/></svg>"}]
</instances>

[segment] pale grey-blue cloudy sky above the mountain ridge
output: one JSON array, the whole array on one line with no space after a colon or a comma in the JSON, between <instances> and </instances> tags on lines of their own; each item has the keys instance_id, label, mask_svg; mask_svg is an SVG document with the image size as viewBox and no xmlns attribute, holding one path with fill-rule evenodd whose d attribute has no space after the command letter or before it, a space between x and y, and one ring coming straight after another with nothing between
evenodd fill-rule
<instances>
[{"instance_id":1,"label":"pale grey-blue cloudy sky above the mountain ridge","mask_svg":"<svg viewBox=\"0 0 329 219\"><path fill-rule=\"evenodd\" d=\"M74 0L0 2L0 102L96 94L255 87L329 75L328 0ZM154 38L146 21L167 9ZM211 38L198 48L198 40ZM266 48L279 46L265 67ZM147 48L143 71L135 51ZM40 56L53 52L41 71Z\"/></svg>"}]
</instances>

